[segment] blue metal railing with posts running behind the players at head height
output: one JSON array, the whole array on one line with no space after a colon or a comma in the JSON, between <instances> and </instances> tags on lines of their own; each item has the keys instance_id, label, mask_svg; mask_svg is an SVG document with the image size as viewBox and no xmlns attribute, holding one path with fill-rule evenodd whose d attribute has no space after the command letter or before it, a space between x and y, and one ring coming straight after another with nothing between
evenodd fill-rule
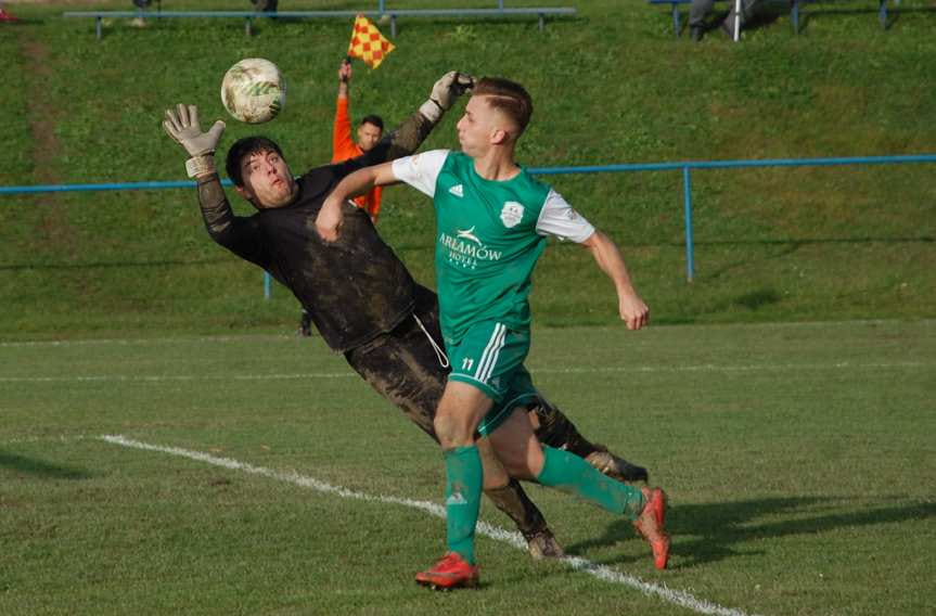
<instances>
[{"instance_id":1,"label":"blue metal railing with posts running behind the players at head height","mask_svg":"<svg viewBox=\"0 0 936 616\"><path fill-rule=\"evenodd\" d=\"M579 167L530 167L527 170L537 176L561 174L608 174L629 171L682 171L682 207L685 217L685 278L692 282L695 265L692 238L692 169L726 169L742 167L830 167L841 165L898 165L906 163L936 163L936 154L906 154L898 156L849 156L833 158L764 158L741 161L683 161L679 163L632 163L621 165L585 165ZM230 180L222 180L231 185ZM0 187L2 194L74 192L74 191L114 191L114 190L154 190L194 188L193 181L172 182L118 182L99 184L49 184L35 187ZM265 272L264 296L270 297L270 274Z\"/></svg>"}]
</instances>

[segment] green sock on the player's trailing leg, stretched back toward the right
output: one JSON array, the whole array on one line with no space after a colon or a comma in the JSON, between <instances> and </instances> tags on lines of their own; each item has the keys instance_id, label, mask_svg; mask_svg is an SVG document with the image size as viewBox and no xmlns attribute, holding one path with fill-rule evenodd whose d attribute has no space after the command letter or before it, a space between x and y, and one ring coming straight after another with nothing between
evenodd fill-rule
<instances>
[{"instance_id":1,"label":"green sock on the player's trailing leg, stretched back toward the right","mask_svg":"<svg viewBox=\"0 0 936 616\"><path fill-rule=\"evenodd\" d=\"M543 447L543 464L536 479L582 498L612 513L637 519L643 511L643 492L599 473L594 466L568 451Z\"/></svg>"}]
</instances>

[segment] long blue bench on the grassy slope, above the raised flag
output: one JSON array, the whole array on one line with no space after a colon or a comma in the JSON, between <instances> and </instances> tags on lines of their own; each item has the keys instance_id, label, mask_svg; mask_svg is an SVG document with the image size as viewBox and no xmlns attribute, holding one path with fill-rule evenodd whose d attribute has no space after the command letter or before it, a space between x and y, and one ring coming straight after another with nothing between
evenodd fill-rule
<instances>
[{"instance_id":1,"label":"long blue bench on the grassy slope, above the raised flag","mask_svg":"<svg viewBox=\"0 0 936 616\"><path fill-rule=\"evenodd\" d=\"M252 23L254 20L277 18L354 18L357 15L366 15L372 20L388 17L390 21L390 36L397 36L397 17L510 17L523 15L537 15L539 17L539 29L542 31L547 16L570 16L575 15L574 8L565 7L540 7L540 8L504 8L503 0L497 9L385 9L383 2L375 11L69 11L62 14L63 17L90 17L95 20L95 34L98 38L102 35L102 22L104 18L138 18L168 20L168 18L239 18L244 20L244 31L247 36L253 34Z\"/></svg>"}]
</instances>

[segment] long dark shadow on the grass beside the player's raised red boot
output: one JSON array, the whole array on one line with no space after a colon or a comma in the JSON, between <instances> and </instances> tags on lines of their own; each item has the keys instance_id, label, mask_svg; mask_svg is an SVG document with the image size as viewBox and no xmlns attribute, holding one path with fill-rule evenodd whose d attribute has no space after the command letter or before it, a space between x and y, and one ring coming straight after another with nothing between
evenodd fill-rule
<instances>
[{"instance_id":1,"label":"long dark shadow on the grass beside the player's raised red boot","mask_svg":"<svg viewBox=\"0 0 936 616\"><path fill-rule=\"evenodd\" d=\"M890 499L885 499L890 500ZM936 516L936 504L919 503L898 506L861 506L852 511L817 513L817 509L839 509L843 499L816 497L762 499L740 502L685 504L672 506L667 514L667 529L672 534L671 554L679 556L679 567L689 568L731 557L762 554L753 549L754 541L799 535L817 535L841 528L893 524ZM858 505L856 505L858 506ZM765 516L787 514L786 519L757 523ZM569 554L590 548L607 547L636 537L631 523L611 524L604 535L567 546ZM689 539L681 539L689 537ZM764 546L764 543L757 543ZM633 561L621 556L606 564ZM671 566L671 565L670 565Z\"/></svg>"}]
</instances>

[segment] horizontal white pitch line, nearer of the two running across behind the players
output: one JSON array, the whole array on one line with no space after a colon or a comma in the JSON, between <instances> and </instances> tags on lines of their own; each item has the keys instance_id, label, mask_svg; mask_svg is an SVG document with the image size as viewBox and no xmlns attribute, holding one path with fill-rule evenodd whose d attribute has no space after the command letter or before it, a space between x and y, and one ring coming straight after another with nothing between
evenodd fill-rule
<instances>
[{"instance_id":1,"label":"horizontal white pitch line, nearer of the two running across behind the players","mask_svg":"<svg viewBox=\"0 0 936 616\"><path fill-rule=\"evenodd\" d=\"M590 373L680 373L680 372L788 372L796 370L903 370L932 368L933 362L923 361L879 361L870 363L836 361L830 363L762 363L718 365L701 363L695 365L605 365L598 368L531 368L533 374L590 374ZM357 373L347 372L297 372L273 374L154 374L154 375L67 375L67 376L0 376L0 383L82 383L82 382L168 382L168 381L290 381L297 378L347 378Z\"/></svg>"}]
</instances>

